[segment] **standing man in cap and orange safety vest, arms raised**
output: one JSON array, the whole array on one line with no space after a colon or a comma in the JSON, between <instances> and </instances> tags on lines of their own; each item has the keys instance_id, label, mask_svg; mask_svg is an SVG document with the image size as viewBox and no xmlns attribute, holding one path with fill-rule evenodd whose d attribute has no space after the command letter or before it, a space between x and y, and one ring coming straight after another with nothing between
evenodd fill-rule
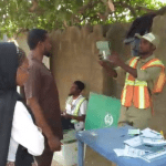
<instances>
[{"instance_id":1,"label":"standing man in cap and orange safety vest, arms raised","mask_svg":"<svg viewBox=\"0 0 166 166\"><path fill-rule=\"evenodd\" d=\"M152 95L162 92L166 75L164 64L154 55L158 45L157 37L153 33L143 37L136 34L136 37L141 38L139 56L134 56L125 63L117 53L112 53L108 62L100 61L100 64L110 76L118 79L122 70L126 75L121 96L122 107L118 125L127 123L143 129L148 126L152 117ZM113 69L111 65L118 68Z\"/></svg>"}]
</instances>

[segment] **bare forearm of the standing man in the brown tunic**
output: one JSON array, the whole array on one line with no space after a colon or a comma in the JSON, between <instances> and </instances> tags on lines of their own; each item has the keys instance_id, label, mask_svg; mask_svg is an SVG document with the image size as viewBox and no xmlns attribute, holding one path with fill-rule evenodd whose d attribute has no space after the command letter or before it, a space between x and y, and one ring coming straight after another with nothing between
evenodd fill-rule
<instances>
[{"instance_id":1,"label":"bare forearm of the standing man in the brown tunic","mask_svg":"<svg viewBox=\"0 0 166 166\"><path fill-rule=\"evenodd\" d=\"M30 98L30 100L28 100L28 105L30 106L30 108L35 117L37 125L42 128L43 134L48 138L52 137L53 133L52 133L49 124L45 121L45 117L42 113L42 108L39 105L38 101L35 98Z\"/></svg>"}]
</instances>

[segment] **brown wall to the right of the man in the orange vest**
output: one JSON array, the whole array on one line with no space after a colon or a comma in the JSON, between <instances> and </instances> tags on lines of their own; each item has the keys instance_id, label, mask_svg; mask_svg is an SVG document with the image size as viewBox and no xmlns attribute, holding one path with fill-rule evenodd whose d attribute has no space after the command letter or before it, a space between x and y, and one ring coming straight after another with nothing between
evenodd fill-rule
<instances>
[{"instance_id":1,"label":"brown wall to the right of the man in the orange vest","mask_svg":"<svg viewBox=\"0 0 166 166\"><path fill-rule=\"evenodd\" d=\"M159 58L166 66L166 14L154 19L153 32L159 37L160 44L155 51L155 55ZM163 129L166 134L166 86L162 94L154 97L155 115L151 122L154 129Z\"/></svg>"}]
</instances>

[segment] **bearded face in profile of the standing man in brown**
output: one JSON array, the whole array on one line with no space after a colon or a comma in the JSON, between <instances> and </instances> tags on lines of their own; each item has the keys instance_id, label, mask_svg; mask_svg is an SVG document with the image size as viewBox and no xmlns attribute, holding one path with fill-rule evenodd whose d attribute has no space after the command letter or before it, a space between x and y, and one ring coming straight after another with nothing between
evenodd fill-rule
<instances>
[{"instance_id":1,"label":"bearded face in profile of the standing man in brown","mask_svg":"<svg viewBox=\"0 0 166 166\"><path fill-rule=\"evenodd\" d=\"M46 34L46 39L43 42L43 55L51 56L51 49L52 49L52 45L50 42L50 38L49 38L49 34Z\"/></svg>"}]
</instances>

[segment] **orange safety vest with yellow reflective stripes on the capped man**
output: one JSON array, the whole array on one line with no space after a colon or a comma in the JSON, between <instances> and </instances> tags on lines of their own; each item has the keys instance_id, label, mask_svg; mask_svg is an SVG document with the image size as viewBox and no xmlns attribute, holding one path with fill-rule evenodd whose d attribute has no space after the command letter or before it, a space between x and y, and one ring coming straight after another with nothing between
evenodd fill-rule
<instances>
[{"instance_id":1,"label":"orange safety vest with yellow reflective stripes on the capped man","mask_svg":"<svg viewBox=\"0 0 166 166\"><path fill-rule=\"evenodd\" d=\"M136 69L137 62L139 58L133 58L129 61L129 66L133 69ZM165 66L164 64L158 60L158 59L153 59L145 63L141 70L146 70L147 68L152 66L160 66L162 72L159 74L159 77L154 85L153 89L153 94L154 93L160 93L165 82L166 82L166 75L165 75ZM146 81L139 81L135 79L132 74L126 73L126 80L125 80L125 85L122 92L121 96L121 103L122 105L129 107L132 103L134 104L135 107L137 108L147 108L152 106L151 104L151 95L148 92L147 87L147 82Z\"/></svg>"}]
</instances>

